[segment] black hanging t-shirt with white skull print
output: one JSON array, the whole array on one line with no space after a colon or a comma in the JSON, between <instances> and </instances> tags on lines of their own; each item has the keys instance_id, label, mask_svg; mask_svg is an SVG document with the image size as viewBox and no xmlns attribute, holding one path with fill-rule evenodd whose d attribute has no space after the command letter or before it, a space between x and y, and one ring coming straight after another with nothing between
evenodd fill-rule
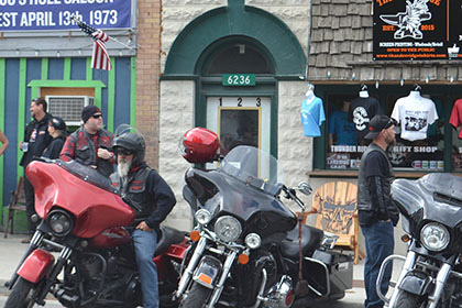
<instances>
[{"instance_id":1,"label":"black hanging t-shirt with white skull print","mask_svg":"<svg viewBox=\"0 0 462 308\"><path fill-rule=\"evenodd\" d=\"M354 123L359 139L363 139L369 133L369 122L376 114L384 114L376 98L358 97L351 101L348 121Z\"/></svg>"}]
</instances>

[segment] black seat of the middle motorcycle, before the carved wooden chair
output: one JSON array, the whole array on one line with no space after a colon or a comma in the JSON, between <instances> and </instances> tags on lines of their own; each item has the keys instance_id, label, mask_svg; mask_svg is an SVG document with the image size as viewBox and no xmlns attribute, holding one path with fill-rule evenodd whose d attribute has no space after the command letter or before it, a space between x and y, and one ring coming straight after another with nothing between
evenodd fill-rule
<instances>
[{"instance_id":1,"label":"black seat of the middle motorcycle, before the carved wooden chair","mask_svg":"<svg viewBox=\"0 0 462 308\"><path fill-rule=\"evenodd\" d=\"M323 238L322 230L301 224L301 254L308 255L315 251ZM287 237L280 243L282 254L292 260L298 258L298 224L287 233Z\"/></svg>"}]
</instances>

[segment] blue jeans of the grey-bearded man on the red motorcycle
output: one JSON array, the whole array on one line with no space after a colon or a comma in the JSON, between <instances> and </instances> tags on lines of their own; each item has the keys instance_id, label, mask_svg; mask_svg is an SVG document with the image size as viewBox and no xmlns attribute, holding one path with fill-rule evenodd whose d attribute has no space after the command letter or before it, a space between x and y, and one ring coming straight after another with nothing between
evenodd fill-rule
<instances>
[{"instance_id":1,"label":"blue jeans of the grey-bearded man on the red motorcycle","mask_svg":"<svg viewBox=\"0 0 462 308\"><path fill-rule=\"evenodd\" d=\"M158 308L157 267L153 261L157 246L157 232L135 229L132 233L136 265L140 273L144 308Z\"/></svg>"}]
</instances>

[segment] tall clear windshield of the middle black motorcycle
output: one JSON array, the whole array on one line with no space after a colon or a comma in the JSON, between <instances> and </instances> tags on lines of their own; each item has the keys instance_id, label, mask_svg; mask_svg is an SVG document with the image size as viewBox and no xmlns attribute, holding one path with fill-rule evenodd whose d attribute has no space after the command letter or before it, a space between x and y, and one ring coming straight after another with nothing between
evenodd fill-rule
<instances>
[{"instance_id":1,"label":"tall clear windshield of the middle black motorcycle","mask_svg":"<svg viewBox=\"0 0 462 308\"><path fill-rule=\"evenodd\" d=\"M245 185L275 195L284 172L270 153L254 146L234 147L220 164L220 169Z\"/></svg>"}]
</instances>

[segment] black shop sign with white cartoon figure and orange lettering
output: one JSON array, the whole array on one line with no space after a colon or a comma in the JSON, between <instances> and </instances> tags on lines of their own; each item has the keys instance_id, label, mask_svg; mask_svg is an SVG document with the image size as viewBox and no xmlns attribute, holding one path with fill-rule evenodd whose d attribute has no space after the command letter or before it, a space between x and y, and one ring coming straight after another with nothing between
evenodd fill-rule
<instances>
[{"instance_id":1,"label":"black shop sign with white cartoon figure and orange lettering","mask_svg":"<svg viewBox=\"0 0 462 308\"><path fill-rule=\"evenodd\" d=\"M374 0L374 59L462 59L462 0Z\"/></svg>"}]
</instances>

